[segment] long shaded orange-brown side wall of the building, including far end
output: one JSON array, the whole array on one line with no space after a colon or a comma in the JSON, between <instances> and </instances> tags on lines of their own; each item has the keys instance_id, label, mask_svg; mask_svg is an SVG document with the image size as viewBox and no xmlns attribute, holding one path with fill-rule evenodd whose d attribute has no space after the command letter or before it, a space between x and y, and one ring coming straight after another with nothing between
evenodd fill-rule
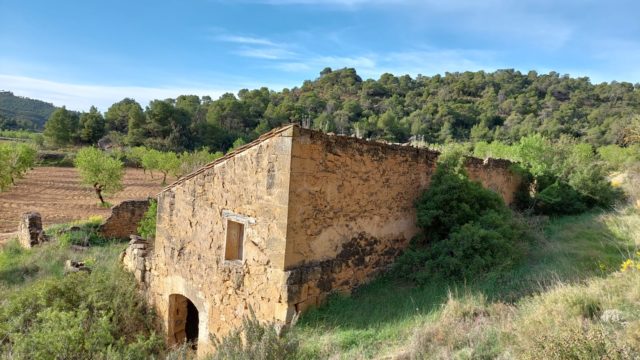
<instances>
[{"instance_id":1,"label":"long shaded orange-brown side wall of the building, including far end","mask_svg":"<svg viewBox=\"0 0 640 360\"><path fill-rule=\"evenodd\" d=\"M296 128L287 228L287 295L294 311L348 293L390 265L418 229L414 201L437 152ZM509 162L470 158L472 179L511 203Z\"/></svg>"}]
</instances>

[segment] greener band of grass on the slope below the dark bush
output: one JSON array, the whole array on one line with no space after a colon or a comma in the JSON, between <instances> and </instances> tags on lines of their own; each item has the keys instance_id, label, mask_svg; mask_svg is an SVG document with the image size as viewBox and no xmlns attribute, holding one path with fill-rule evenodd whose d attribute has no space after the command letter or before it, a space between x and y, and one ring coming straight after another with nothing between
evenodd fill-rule
<instances>
[{"instance_id":1,"label":"greener band of grass on the slope below the dark bush","mask_svg":"<svg viewBox=\"0 0 640 360\"><path fill-rule=\"evenodd\" d=\"M549 290L552 297L556 290L550 289L558 284L570 287L606 277L633 253L632 234L635 231L640 235L639 219L634 213L588 213L550 220L539 226L538 240L526 263L510 274L466 284L434 283L423 288L378 280L352 297L334 297L309 312L293 335L301 339L303 356L307 358L397 355L411 348L420 329L441 323L443 311L457 306L456 302L464 303L470 294L482 306L505 303L508 307L526 307L532 301L531 295ZM600 284L606 287L607 280ZM502 350L509 343L501 341Z\"/></svg>"}]
</instances>

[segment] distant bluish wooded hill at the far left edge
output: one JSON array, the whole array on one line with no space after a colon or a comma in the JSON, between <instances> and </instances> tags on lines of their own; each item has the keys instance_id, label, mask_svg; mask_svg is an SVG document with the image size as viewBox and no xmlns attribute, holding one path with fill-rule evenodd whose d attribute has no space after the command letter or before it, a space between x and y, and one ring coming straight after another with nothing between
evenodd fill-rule
<instances>
[{"instance_id":1,"label":"distant bluish wooded hill at the far left edge","mask_svg":"<svg viewBox=\"0 0 640 360\"><path fill-rule=\"evenodd\" d=\"M0 91L0 130L42 130L53 104Z\"/></svg>"}]
</instances>

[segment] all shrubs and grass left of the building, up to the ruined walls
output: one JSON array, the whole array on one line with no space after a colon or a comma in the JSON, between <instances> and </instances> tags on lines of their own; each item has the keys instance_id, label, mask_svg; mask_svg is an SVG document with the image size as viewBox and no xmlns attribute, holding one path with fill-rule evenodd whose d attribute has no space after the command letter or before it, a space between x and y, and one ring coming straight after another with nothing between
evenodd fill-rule
<instances>
[{"instance_id":1,"label":"all shrubs and grass left of the building, up to the ruined walls","mask_svg":"<svg viewBox=\"0 0 640 360\"><path fill-rule=\"evenodd\" d=\"M12 241L0 250L2 358L160 357L154 314L118 262L125 244L97 235L100 221L52 227L37 248ZM65 273L67 260L91 271Z\"/></svg>"}]
</instances>

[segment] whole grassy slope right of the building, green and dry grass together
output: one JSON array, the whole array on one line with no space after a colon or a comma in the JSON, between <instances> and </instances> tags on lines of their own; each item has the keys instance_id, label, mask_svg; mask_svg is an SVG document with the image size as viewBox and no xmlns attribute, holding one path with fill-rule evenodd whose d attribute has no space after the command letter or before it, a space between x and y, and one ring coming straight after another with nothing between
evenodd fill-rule
<instances>
[{"instance_id":1,"label":"whole grassy slope right of the building, green and dry grass together","mask_svg":"<svg viewBox=\"0 0 640 360\"><path fill-rule=\"evenodd\" d=\"M638 343L607 342L610 336L631 335L611 330L599 316L626 309L621 311L632 322L640 318L640 308L632 310L631 302L640 293L640 275L617 272L640 241L640 215L625 209L534 220L537 241L527 260L509 273L422 287L382 278L351 297L330 298L293 330L301 357L535 358L545 340L525 325L538 317L545 326L564 328L557 346L565 340L584 346L593 339L594 350L576 352L577 358L618 353L624 358ZM549 306L563 315L554 315ZM578 331L575 323L584 319L592 324ZM559 350L544 351L553 358Z\"/></svg>"}]
</instances>

